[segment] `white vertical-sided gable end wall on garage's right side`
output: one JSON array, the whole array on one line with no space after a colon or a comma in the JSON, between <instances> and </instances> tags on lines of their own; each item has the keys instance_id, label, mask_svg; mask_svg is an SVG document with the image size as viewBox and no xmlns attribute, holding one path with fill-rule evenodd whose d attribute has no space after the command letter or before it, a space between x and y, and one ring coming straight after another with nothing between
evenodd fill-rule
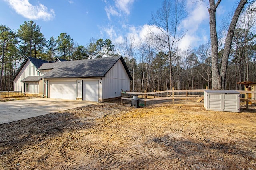
<instances>
[{"instance_id":1,"label":"white vertical-sided gable end wall on garage's right side","mask_svg":"<svg viewBox=\"0 0 256 170\"><path fill-rule=\"evenodd\" d=\"M120 60L102 78L102 99L121 96L121 89L130 90L130 79Z\"/></svg>"}]
</instances>

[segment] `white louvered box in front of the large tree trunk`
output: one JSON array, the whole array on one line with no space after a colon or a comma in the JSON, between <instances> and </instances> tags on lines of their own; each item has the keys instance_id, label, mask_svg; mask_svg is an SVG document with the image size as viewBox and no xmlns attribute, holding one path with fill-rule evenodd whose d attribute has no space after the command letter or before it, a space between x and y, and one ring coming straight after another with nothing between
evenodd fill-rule
<instances>
[{"instance_id":1,"label":"white louvered box in front of the large tree trunk","mask_svg":"<svg viewBox=\"0 0 256 170\"><path fill-rule=\"evenodd\" d=\"M213 111L239 112L239 92L235 90L204 90L204 108Z\"/></svg>"}]
</instances>

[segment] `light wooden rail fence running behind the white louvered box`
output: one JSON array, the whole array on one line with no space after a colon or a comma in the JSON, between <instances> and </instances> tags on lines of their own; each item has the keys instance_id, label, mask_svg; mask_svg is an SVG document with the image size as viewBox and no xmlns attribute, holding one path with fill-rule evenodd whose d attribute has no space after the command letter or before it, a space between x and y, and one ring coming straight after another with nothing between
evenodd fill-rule
<instances>
[{"instance_id":1,"label":"light wooden rail fence running behind the white louvered box","mask_svg":"<svg viewBox=\"0 0 256 170\"><path fill-rule=\"evenodd\" d=\"M140 100L140 105L146 106L147 101L156 101L156 100L172 100L174 104L175 99L194 99L196 102L201 102L204 99L204 90L166 90L166 91L156 91L156 92L122 92L121 104L129 104L133 96L138 96ZM249 102L256 103L256 100L249 98L249 94L254 94L256 97L256 92L252 91L238 91L240 93L240 102L246 103L246 108L248 108ZM241 95L242 94L242 95Z\"/></svg>"}]
</instances>

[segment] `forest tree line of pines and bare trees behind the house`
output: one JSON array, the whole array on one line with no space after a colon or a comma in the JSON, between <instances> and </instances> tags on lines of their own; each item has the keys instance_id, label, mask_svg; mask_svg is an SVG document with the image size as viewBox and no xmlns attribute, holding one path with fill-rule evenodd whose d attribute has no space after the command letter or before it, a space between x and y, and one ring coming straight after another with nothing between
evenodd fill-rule
<instances>
[{"instance_id":1,"label":"forest tree line of pines and bare trees behind the house","mask_svg":"<svg viewBox=\"0 0 256 170\"><path fill-rule=\"evenodd\" d=\"M156 13L152 13L152 25L162 33L151 31L140 40L135 35L122 42L91 38L88 45L78 45L67 33L58 37L44 38L41 27L34 21L25 21L18 30L0 25L0 90L13 90L11 81L26 57L54 61L56 57L66 60L94 59L122 55L132 75L130 89L154 91L175 89L212 88L212 43L196 48L180 49L179 41L186 31L177 29L186 18L184 1L164 0ZM209 0L211 1L211 0ZM172 8L175 7L175 11ZM246 7L247 9L248 6ZM170 14L167 11L171 11ZM169 25L164 25L162 14L168 14ZM178 16L178 17L177 17ZM178 20L175 20L178 18ZM218 63L225 53L225 39L231 18L223 20L218 32ZM241 81L256 82L256 16L254 10L241 12L236 23L228 55L224 80L225 89L243 90L236 84ZM167 34L168 33L168 34ZM219 71L221 66L218 66Z\"/></svg>"}]
</instances>

